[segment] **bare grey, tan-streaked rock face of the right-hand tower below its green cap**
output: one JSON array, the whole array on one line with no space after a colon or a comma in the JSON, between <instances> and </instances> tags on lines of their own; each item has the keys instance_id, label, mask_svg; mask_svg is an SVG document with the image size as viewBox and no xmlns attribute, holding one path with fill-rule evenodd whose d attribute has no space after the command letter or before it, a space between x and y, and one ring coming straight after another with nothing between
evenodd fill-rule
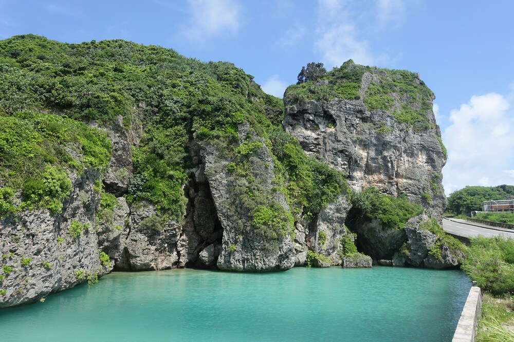
<instances>
[{"instance_id":1,"label":"bare grey, tan-streaked rock face of the right-hand tower below its green cap","mask_svg":"<svg viewBox=\"0 0 514 342\"><path fill-rule=\"evenodd\" d=\"M446 207L442 167L446 163L433 113L431 128L415 131L385 110L370 112L360 100L285 101L284 127L307 154L348 174L354 191L375 186L406 195L440 220ZM425 194L425 195L424 195Z\"/></svg>"}]
</instances>

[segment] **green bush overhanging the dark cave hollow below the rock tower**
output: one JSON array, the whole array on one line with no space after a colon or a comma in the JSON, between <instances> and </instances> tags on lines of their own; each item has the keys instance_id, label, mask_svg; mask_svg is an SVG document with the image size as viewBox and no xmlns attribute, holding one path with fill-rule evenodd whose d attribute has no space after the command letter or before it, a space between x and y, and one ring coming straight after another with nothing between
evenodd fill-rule
<instances>
[{"instance_id":1,"label":"green bush overhanging the dark cave hollow below the rock tower","mask_svg":"<svg viewBox=\"0 0 514 342\"><path fill-rule=\"evenodd\" d=\"M407 221L423 213L423 207L403 197L381 194L375 187L366 187L352 195L352 204L362 215L378 219L383 229L403 229Z\"/></svg>"}]
</instances>

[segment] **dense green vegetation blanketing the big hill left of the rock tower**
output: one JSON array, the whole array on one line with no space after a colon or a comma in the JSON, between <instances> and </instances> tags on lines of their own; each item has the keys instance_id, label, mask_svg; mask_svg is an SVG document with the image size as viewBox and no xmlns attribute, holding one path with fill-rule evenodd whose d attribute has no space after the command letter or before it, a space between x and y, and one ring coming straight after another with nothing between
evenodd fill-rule
<instances>
[{"instance_id":1,"label":"dense green vegetation blanketing the big hill left of the rock tower","mask_svg":"<svg viewBox=\"0 0 514 342\"><path fill-rule=\"evenodd\" d=\"M365 70L348 61L328 72L329 96L359 98ZM318 91L305 81L297 86ZM320 87L320 93L327 88ZM203 63L121 40L64 44L29 34L0 41L0 213L25 207L59 212L71 172L103 172L111 154L103 129L121 122L141 135L132 151L134 175L120 169L117 177L130 177L129 204L154 205L155 217L145 226L160 231L168 220L183 219L188 146L195 140L229 162L229 206L252 222L238 224L242 231L270 239L292 235L296 219L315 215L347 186L343 175L307 157L284 131L283 109L231 63ZM249 126L245 137L238 135L242 123ZM266 148L274 163L271 189L264 186L266 165L255 158ZM95 224L112 229L115 198L99 180L94 189L100 195ZM277 202L279 194L290 211ZM87 201L87 194L79 199ZM79 237L85 229L72 222L69 234Z\"/></svg>"}]
</instances>

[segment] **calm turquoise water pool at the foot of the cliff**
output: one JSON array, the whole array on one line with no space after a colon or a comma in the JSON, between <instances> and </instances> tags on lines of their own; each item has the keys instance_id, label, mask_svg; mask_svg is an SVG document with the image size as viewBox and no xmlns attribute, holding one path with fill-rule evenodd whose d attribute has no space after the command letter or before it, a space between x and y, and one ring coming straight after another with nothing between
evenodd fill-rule
<instances>
[{"instance_id":1,"label":"calm turquoise water pool at the foot of the cliff","mask_svg":"<svg viewBox=\"0 0 514 342\"><path fill-rule=\"evenodd\" d=\"M0 340L444 341L470 287L460 271L386 267L112 273L0 310Z\"/></svg>"}]
</instances>

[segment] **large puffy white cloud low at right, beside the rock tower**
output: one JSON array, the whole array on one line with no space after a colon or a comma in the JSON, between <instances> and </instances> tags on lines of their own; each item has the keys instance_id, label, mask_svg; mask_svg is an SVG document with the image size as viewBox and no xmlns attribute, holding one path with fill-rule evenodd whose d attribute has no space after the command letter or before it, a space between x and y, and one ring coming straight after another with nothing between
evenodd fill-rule
<instances>
[{"instance_id":1,"label":"large puffy white cloud low at right, beside the rock tower","mask_svg":"<svg viewBox=\"0 0 514 342\"><path fill-rule=\"evenodd\" d=\"M512 183L514 113L509 97L497 93L473 96L450 111L443 132L448 163L443 169L447 194L466 185Z\"/></svg>"}]
</instances>

